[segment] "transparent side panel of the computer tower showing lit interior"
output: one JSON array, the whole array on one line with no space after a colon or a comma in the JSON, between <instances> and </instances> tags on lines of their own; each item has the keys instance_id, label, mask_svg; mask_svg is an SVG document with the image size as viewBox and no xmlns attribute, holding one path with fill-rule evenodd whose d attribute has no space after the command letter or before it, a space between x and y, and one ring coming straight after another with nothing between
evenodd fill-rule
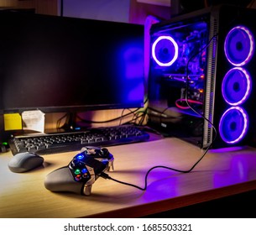
<instances>
[{"instance_id":1,"label":"transparent side panel of the computer tower showing lit interior","mask_svg":"<svg viewBox=\"0 0 256 235\"><path fill-rule=\"evenodd\" d=\"M150 37L149 123L165 133L201 142L208 17L155 27Z\"/></svg>"}]
</instances>

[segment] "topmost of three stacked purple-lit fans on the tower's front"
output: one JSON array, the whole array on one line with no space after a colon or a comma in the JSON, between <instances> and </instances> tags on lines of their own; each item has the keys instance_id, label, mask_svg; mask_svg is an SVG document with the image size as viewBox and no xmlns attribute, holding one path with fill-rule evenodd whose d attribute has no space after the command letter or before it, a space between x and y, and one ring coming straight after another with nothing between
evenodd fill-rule
<instances>
[{"instance_id":1,"label":"topmost of three stacked purple-lit fans on the tower's front","mask_svg":"<svg viewBox=\"0 0 256 235\"><path fill-rule=\"evenodd\" d=\"M251 60L254 52L253 34L243 26L231 29L225 39L227 60L234 66L243 66Z\"/></svg>"}]
</instances>

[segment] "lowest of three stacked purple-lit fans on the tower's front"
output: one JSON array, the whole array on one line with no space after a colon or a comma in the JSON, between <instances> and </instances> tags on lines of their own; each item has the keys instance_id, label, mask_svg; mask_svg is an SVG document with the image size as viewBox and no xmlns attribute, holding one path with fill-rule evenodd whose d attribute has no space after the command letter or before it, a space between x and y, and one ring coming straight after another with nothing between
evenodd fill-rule
<instances>
[{"instance_id":1,"label":"lowest of three stacked purple-lit fans on the tower's front","mask_svg":"<svg viewBox=\"0 0 256 235\"><path fill-rule=\"evenodd\" d=\"M241 141L248 131L248 114L242 107L230 107L223 113L219 133L227 144Z\"/></svg>"}]
</instances>

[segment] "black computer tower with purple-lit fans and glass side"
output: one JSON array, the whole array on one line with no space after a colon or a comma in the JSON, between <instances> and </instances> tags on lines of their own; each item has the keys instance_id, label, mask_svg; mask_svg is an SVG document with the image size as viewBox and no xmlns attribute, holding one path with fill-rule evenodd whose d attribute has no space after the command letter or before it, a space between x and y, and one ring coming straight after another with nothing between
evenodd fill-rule
<instances>
[{"instance_id":1,"label":"black computer tower with purple-lit fans and glass side","mask_svg":"<svg viewBox=\"0 0 256 235\"><path fill-rule=\"evenodd\" d=\"M202 149L253 144L255 22L222 5L152 25L149 126Z\"/></svg>"}]
</instances>

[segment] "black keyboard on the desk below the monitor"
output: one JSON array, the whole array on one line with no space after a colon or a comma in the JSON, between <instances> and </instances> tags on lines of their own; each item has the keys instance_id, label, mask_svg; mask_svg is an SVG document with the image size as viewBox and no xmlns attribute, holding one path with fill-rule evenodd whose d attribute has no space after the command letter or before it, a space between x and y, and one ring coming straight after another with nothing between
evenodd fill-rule
<instances>
[{"instance_id":1,"label":"black keyboard on the desk below the monitor","mask_svg":"<svg viewBox=\"0 0 256 235\"><path fill-rule=\"evenodd\" d=\"M50 133L34 136L17 136L9 140L14 154L34 152L57 154L80 150L85 146L107 147L146 141L149 133L138 126L122 125L104 128L89 128L82 132Z\"/></svg>"}]
</instances>

